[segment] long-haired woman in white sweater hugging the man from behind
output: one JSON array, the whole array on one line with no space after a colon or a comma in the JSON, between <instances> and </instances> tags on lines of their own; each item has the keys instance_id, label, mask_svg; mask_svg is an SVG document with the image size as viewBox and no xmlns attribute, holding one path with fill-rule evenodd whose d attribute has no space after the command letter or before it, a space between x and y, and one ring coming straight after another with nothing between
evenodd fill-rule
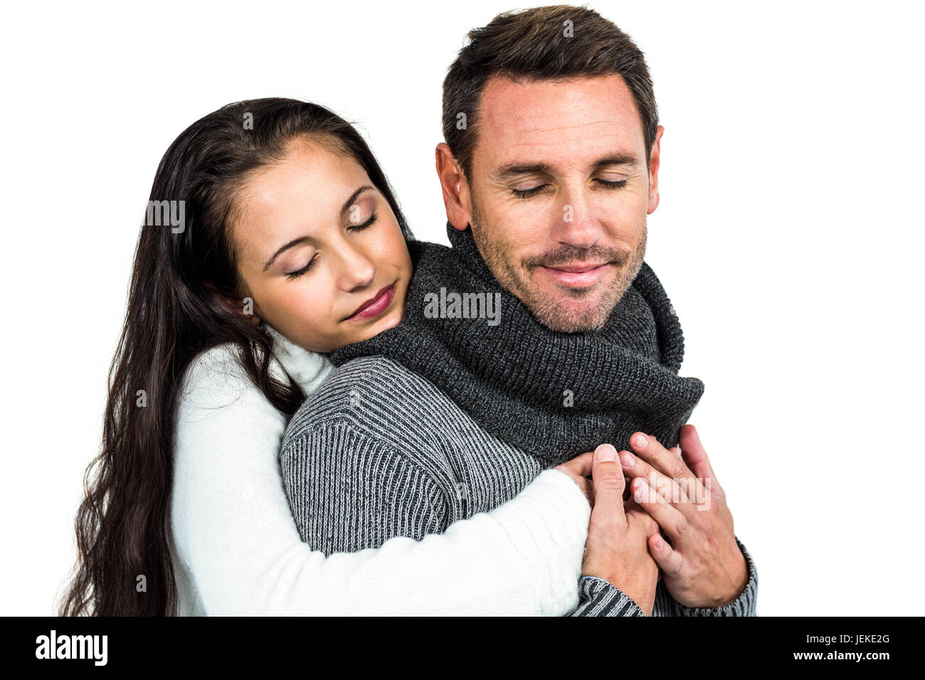
<instances>
[{"instance_id":1,"label":"long-haired woman in white sweater hugging the man from behind","mask_svg":"<svg viewBox=\"0 0 925 680\"><path fill-rule=\"evenodd\" d=\"M327 352L401 320L412 273L348 123L288 99L225 106L170 146L149 206L63 615L433 613L449 588L469 612L569 611L586 457L420 542L326 558L299 539L288 419Z\"/></svg>"}]
</instances>

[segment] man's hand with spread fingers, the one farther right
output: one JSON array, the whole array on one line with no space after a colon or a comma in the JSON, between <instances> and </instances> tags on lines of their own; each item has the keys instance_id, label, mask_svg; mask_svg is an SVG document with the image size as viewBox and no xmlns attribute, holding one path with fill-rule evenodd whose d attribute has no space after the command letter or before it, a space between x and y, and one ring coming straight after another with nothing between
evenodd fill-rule
<instances>
[{"instance_id":1,"label":"man's hand with spread fingers, the one farther right","mask_svg":"<svg viewBox=\"0 0 925 680\"><path fill-rule=\"evenodd\" d=\"M656 533L649 537L648 549L674 600L685 607L722 607L734 602L748 583L745 557L735 543L733 514L697 429L682 427L679 443L680 449L669 451L654 437L636 432L630 446L637 456L620 453L623 473L631 480L634 500L671 541L669 545Z\"/></svg>"}]
</instances>

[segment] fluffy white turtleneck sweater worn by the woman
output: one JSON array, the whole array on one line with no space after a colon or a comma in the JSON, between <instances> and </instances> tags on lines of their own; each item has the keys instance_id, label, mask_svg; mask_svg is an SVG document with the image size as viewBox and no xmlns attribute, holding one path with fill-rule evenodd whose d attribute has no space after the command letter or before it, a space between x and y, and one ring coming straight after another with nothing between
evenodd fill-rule
<instances>
[{"instance_id":1,"label":"fluffy white turtleneck sweater worn by the woman","mask_svg":"<svg viewBox=\"0 0 925 680\"><path fill-rule=\"evenodd\" d=\"M272 370L313 392L331 371L272 328ZM590 508L543 472L490 513L421 541L325 557L302 543L279 473L287 416L227 346L187 371L176 414L171 543L180 615L561 615L578 601Z\"/></svg>"}]
</instances>

